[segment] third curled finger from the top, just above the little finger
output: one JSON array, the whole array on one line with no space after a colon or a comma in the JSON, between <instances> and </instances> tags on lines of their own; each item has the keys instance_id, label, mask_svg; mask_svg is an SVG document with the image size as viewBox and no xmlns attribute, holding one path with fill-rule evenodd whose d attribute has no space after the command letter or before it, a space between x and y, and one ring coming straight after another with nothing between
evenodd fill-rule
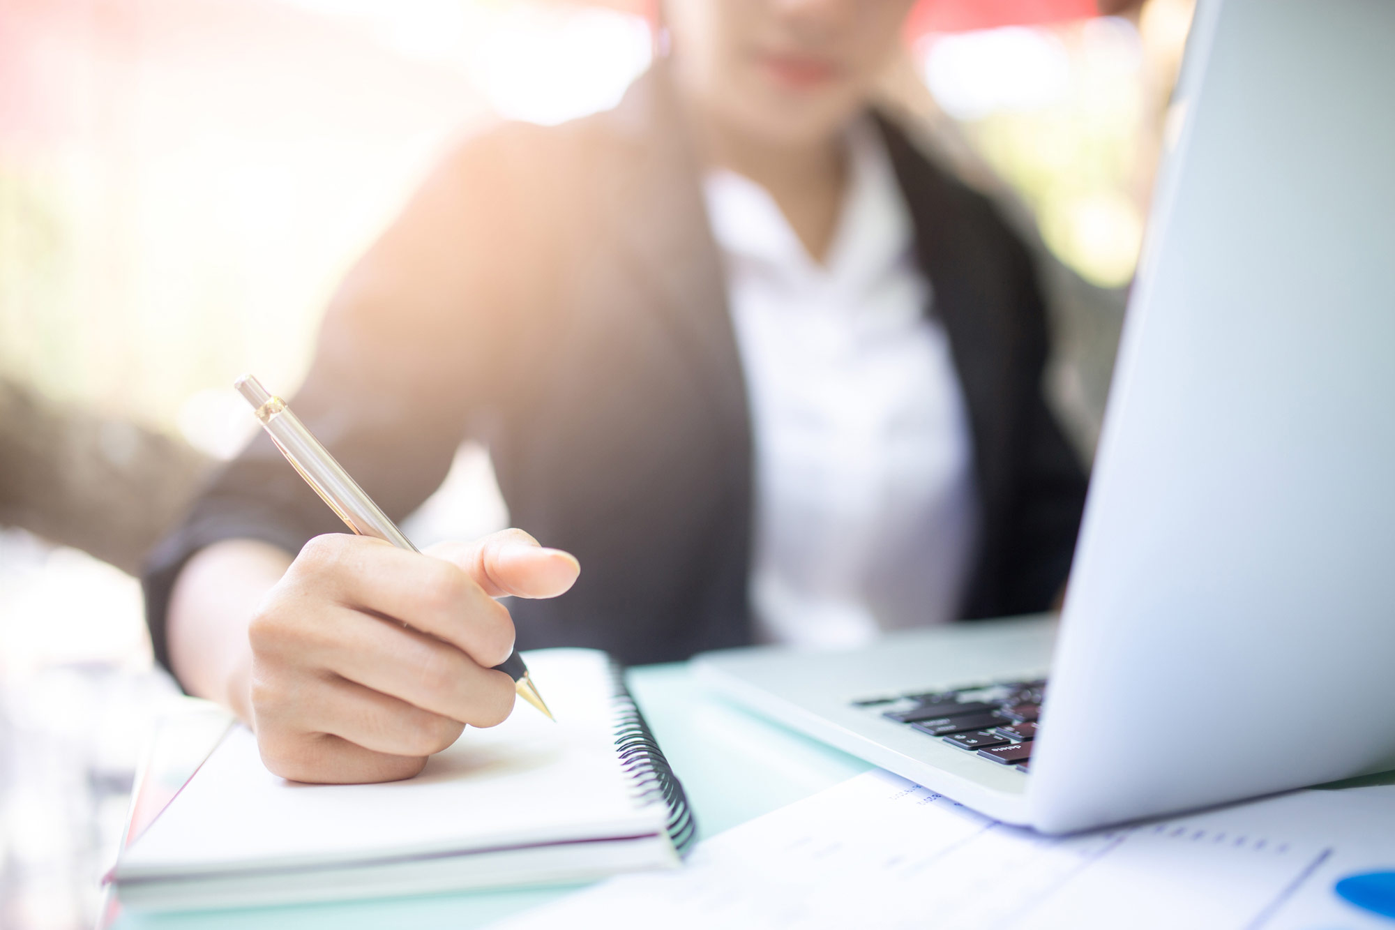
<instances>
[{"instance_id":1,"label":"third curled finger from the top, just above the little finger","mask_svg":"<svg viewBox=\"0 0 1395 930\"><path fill-rule=\"evenodd\" d=\"M449 748L465 730L459 721L332 676L304 688L296 725L306 733L331 733L374 753L412 757Z\"/></svg>"}]
</instances>

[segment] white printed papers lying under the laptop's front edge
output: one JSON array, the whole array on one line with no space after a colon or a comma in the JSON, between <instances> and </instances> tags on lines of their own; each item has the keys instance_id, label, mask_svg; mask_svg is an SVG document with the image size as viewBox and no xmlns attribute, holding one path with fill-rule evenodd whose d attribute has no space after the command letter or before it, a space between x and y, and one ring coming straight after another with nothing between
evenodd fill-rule
<instances>
[{"instance_id":1,"label":"white printed papers lying under the laptop's front edge","mask_svg":"<svg viewBox=\"0 0 1395 930\"><path fill-rule=\"evenodd\" d=\"M1388 929L1332 885L1395 866L1391 824L1384 786L1050 838L875 771L498 926Z\"/></svg>"}]
</instances>

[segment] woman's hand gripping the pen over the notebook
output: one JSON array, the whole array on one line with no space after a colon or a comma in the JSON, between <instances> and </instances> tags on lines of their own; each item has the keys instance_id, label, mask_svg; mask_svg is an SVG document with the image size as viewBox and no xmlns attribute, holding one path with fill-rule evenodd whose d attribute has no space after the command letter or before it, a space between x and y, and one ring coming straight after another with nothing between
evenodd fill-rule
<instances>
[{"instance_id":1,"label":"woman's hand gripping the pen over the notebook","mask_svg":"<svg viewBox=\"0 0 1395 930\"><path fill-rule=\"evenodd\" d=\"M213 553L229 556L239 552ZM191 568L181 586L197 588L211 571L193 561L186 573ZM318 536L252 612L246 672L233 673L246 684L230 686L246 701L230 702L250 718L262 761L278 775L410 778L466 725L494 726L513 708L513 681L491 670L513 649L513 623L495 598L551 598L578 573L576 559L518 529L431 554L361 536ZM197 591L176 591L172 613L181 598ZM176 665L179 658L176 648Z\"/></svg>"}]
</instances>

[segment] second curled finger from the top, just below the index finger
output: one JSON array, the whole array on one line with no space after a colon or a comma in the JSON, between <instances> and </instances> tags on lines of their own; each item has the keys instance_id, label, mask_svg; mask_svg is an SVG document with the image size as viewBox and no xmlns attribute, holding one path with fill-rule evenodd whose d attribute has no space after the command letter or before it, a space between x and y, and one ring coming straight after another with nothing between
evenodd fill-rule
<instances>
[{"instance_id":1,"label":"second curled finger from the top, just below the index finger","mask_svg":"<svg viewBox=\"0 0 1395 930\"><path fill-rule=\"evenodd\" d=\"M317 652L343 679L460 723L495 726L513 711L509 676L393 621L356 614Z\"/></svg>"}]
</instances>

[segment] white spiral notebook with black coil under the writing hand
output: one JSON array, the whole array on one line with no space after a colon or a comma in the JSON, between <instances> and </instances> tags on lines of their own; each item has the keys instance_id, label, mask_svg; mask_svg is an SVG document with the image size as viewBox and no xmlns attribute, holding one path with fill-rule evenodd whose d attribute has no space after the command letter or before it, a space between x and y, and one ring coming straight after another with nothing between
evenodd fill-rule
<instances>
[{"instance_id":1,"label":"white spiral notebook with black coil under the writing hand","mask_svg":"<svg viewBox=\"0 0 1395 930\"><path fill-rule=\"evenodd\" d=\"M527 665L557 714L467 729L416 778L301 785L233 726L112 871L123 903L201 909L568 884L674 867L695 835L618 667L593 649Z\"/></svg>"}]
</instances>

